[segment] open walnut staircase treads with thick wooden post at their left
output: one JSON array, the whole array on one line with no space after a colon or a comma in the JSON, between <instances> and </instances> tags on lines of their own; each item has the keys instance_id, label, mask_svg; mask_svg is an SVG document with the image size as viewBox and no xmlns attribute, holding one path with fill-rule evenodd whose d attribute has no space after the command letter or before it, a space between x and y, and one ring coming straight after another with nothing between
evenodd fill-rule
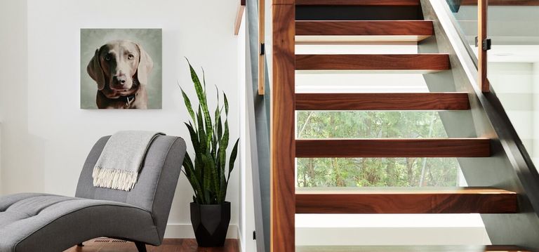
<instances>
[{"instance_id":1,"label":"open walnut staircase treads with thick wooden post at their left","mask_svg":"<svg viewBox=\"0 0 539 252\"><path fill-rule=\"evenodd\" d=\"M355 13L338 16L338 10ZM381 20L371 18L373 8ZM321 20L307 17L305 10ZM315 11L312 11L315 10ZM434 36L433 22L403 11L418 0L275 0L272 122L272 251L523 251L517 246L298 247L295 213L490 213L519 212L517 193L493 187L435 189L295 189L296 157L491 157L488 138L295 139L297 110L470 110L470 93L295 93L295 72L368 71L428 74L451 70L446 53L295 55L295 44L418 42ZM324 11L329 14L326 15ZM362 15L364 13L364 15ZM390 20L391 15L397 17ZM293 32L294 31L294 32Z\"/></svg>"}]
</instances>

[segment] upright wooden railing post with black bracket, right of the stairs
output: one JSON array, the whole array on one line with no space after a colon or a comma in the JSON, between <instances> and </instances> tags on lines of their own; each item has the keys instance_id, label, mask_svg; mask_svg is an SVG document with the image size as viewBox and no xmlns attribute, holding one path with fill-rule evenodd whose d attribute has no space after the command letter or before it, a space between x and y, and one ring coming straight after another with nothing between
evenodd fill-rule
<instances>
[{"instance_id":1,"label":"upright wooden railing post with black bracket, right of the stairs","mask_svg":"<svg viewBox=\"0 0 539 252\"><path fill-rule=\"evenodd\" d=\"M479 85L483 93L488 93L491 89L486 79L487 51L486 48L483 48L483 41L486 40L487 9L488 0L477 1L477 48L479 49L477 73L479 74Z\"/></svg>"}]
</instances>

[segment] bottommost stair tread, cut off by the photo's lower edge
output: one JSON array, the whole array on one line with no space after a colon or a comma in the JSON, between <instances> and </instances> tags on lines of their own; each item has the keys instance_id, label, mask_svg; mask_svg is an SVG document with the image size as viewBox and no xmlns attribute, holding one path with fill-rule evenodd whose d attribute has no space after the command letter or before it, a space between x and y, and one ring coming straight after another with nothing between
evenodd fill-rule
<instances>
[{"instance_id":1,"label":"bottommost stair tread, cut off by the photo's lower edge","mask_svg":"<svg viewBox=\"0 0 539 252\"><path fill-rule=\"evenodd\" d=\"M296 246L296 252L528 252L510 245L447 246Z\"/></svg>"}]
</instances>

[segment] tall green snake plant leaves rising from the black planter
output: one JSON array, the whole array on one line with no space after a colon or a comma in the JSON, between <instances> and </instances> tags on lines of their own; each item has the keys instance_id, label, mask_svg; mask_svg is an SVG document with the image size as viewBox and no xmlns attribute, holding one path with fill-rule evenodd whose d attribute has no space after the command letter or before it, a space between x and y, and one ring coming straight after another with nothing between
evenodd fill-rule
<instances>
[{"instance_id":1,"label":"tall green snake plant leaves rising from the black planter","mask_svg":"<svg viewBox=\"0 0 539 252\"><path fill-rule=\"evenodd\" d=\"M191 116L191 120L185 123L185 126L189 130L194 149L194 162L189 153L185 154L184 169L182 171L193 187L193 201L195 203L222 204L227 197L230 173L234 169L234 161L236 161L238 154L239 138L230 153L227 169L227 147L229 143L227 95L225 92L222 93L224 101L223 105L220 105L219 90L215 86L217 89L217 106L212 120L210 110L208 110L204 69L202 69L201 83L189 60L187 60L187 63L189 64L194 89L197 91L199 105L195 113L191 100L189 100L183 88L180 87L185 107L187 107L187 112ZM225 114L222 114L223 109Z\"/></svg>"}]
</instances>

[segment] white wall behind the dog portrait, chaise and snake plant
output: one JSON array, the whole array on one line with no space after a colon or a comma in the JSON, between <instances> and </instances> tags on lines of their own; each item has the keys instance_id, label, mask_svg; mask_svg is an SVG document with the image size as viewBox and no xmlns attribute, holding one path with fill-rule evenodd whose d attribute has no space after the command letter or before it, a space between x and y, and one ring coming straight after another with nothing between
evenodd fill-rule
<instances>
[{"instance_id":1,"label":"white wall behind the dog portrait, chaise and snake plant","mask_svg":"<svg viewBox=\"0 0 539 252\"><path fill-rule=\"evenodd\" d=\"M214 85L227 93L231 139L238 137L238 72L243 69L238 66L239 39L233 34L236 2L1 1L2 51L8 59L0 62L4 194L32 191L73 195L86 154L102 135L141 129L187 138L182 122L189 117L176 86L179 81L187 93L194 94L184 57L197 69L204 67L211 107L215 106ZM163 110L80 110L80 28L162 28ZM192 236L191 196L182 175L168 236ZM232 175L227 200L232 201L235 236L239 171Z\"/></svg>"}]
</instances>

